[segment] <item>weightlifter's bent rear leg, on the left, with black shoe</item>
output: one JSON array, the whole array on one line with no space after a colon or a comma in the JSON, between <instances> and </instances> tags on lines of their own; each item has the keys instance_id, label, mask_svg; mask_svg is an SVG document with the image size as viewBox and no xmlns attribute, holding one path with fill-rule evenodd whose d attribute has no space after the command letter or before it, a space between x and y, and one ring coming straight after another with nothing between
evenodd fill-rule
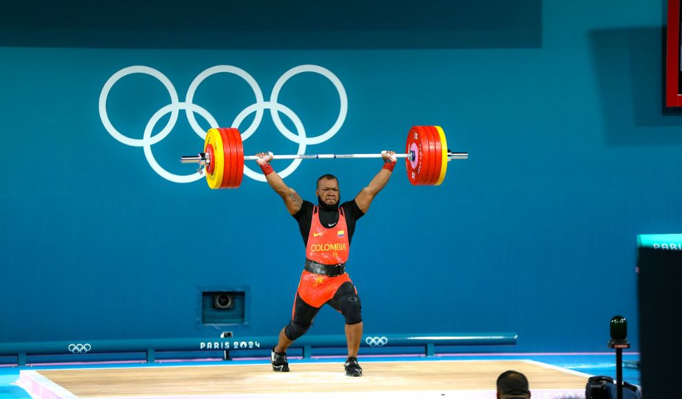
<instances>
[{"instance_id":1,"label":"weightlifter's bent rear leg, on the left, with black shoe","mask_svg":"<svg viewBox=\"0 0 682 399\"><path fill-rule=\"evenodd\" d=\"M307 332L310 326L312 326L312 320L319 311L320 308L315 308L305 303L298 295L298 292L296 293L294 309L291 312L291 321L289 321L285 328L282 328L277 346L272 348L271 362L273 371L289 371L287 348Z\"/></svg>"}]
</instances>

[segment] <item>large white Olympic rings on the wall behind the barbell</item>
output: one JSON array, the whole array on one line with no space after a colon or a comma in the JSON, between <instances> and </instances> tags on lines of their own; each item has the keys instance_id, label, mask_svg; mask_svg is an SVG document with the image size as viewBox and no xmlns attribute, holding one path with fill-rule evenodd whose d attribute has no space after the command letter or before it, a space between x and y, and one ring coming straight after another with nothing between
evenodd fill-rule
<instances>
[{"instance_id":1,"label":"large white Olympic rings on the wall behind the barbell","mask_svg":"<svg viewBox=\"0 0 682 399\"><path fill-rule=\"evenodd\" d=\"M324 76L325 78L329 79L330 82L332 82L332 84L336 88L336 91L339 92L339 99L341 100L339 116L336 118L334 125L332 125L332 127L330 127L330 129L327 130L327 132L324 132L323 134L314 137L308 137L306 135L303 123L301 123L298 116L291 109L289 109L289 107L286 107L285 105L282 105L277 102L280 90L282 89L282 86L284 86L284 84L287 82L287 80L289 80L289 78L291 78L292 76L298 75L298 73L304 72L318 73ZM142 139L133 139L129 136L125 136L124 134L120 133L118 130L116 130L116 127L114 127L114 125L111 124L111 121L109 120L109 114L107 114L107 97L109 96L109 91L111 91L111 87L114 87L116 82L118 82L118 80L120 80L121 78L124 78L125 76L131 75L133 73L143 73L145 75L149 75L152 76L153 78L158 79L163 84L165 89L168 90L168 94L170 95L170 104L161 107L161 109L159 109L154 115L152 115L150 120L147 122L147 126L145 127ZM270 110L272 120L275 123L275 126L277 127L279 132L290 141L298 143L297 154L305 154L306 145L319 144L331 139L332 136L334 136L334 134L339 132L341 126L343 125L343 122L346 121L346 114L348 113L348 96L346 96L346 89L343 88L341 80L339 80L339 78L337 78L336 75L334 75L334 73L332 73L328 69L319 67L318 65L299 65L298 67L294 67L292 69L289 69L289 71L283 73L282 76L280 76L280 78L275 83L275 86L272 88L269 101L264 100L262 91L260 90L260 86L258 86L258 83L251 75L249 75L249 73L247 73L243 69L233 67L231 65L217 65L215 67L210 67L205 71L199 73L199 75L197 75L197 77L194 80L192 80L190 87L187 89L187 94L184 101L179 100L175 87L172 85L170 80L165 75L163 75L163 73L150 67L136 65L133 67L120 69L120 71L114 73L114 75L112 75L111 78L107 80L104 87L102 87L99 100L99 111L100 119L102 120L102 125L104 125L107 132L109 132L109 134L111 134L111 136L113 136L114 139L120 141L120 143L130 145L132 147L143 147L145 157L147 158L147 162L150 164L152 169L164 179L174 181L176 183L190 183L192 181L197 181L202 177L202 175L199 175L199 172L192 173L192 175L175 175L171 172L168 172L168 170L162 168L161 165L159 165L159 162L157 162L156 159L154 159L154 154L152 154L152 145L159 143L159 141L165 139L165 137L168 136L168 134L170 134L171 130L173 130L173 127L175 126L175 123L177 122L178 113L181 109L185 111L190 126L192 127L192 130L194 130L197 136L201 137L202 141L206 138L206 131L201 129L201 127L197 123L195 114L199 114L202 118L204 118L204 120L208 122L210 127L220 126L213 117L213 115L208 113L206 109L192 103L192 99L194 98L195 92L197 91L197 87L199 87L201 82L203 82L206 78L215 75L216 73L232 73L236 76L239 76L240 78L244 79L253 90L253 94L255 96L255 103L249 105L249 107L242 109L242 111L239 114L237 114L234 121L232 121L231 125L231 127L239 128L242 122L244 121L244 118L255 112L255 118L253 118L253 122L251 123L251 125L249 125L249 127L246 128L246 130L242 132L242 141L246 141L246 139L249 139L251 134L253 134L255 130L258 129L258 126L260 125L260 122L262 120L263 111L265 109ZM294 123L294 127L296 127L296 134L294 134L294 132L289 131L287 127L285 127L285 125L282 123L282 120L280 119L280 112L282 114L285 114L291 120L291 122ZM159 119L161 119L163 116L165 116L165 114L168 113L170 113L170 120L168 121L168 123L165 125L165 127L163 127L161 132L152 135L152 130L156 126L156 123L158 123ZM298 168L298 165L300 164L301 161L302 161L301 159L294 159L294 161L292 161L291 164L287 166L287 168L285 168L281 172L278 172L279 175L282 178L291 175L291 173L294 172L296 168ZM246 165L244 165L244 175L251 177L251 179L254 180L266 181L262 173L254 172L253 170L249 169Z\"/></svg>"}]
</instances>

